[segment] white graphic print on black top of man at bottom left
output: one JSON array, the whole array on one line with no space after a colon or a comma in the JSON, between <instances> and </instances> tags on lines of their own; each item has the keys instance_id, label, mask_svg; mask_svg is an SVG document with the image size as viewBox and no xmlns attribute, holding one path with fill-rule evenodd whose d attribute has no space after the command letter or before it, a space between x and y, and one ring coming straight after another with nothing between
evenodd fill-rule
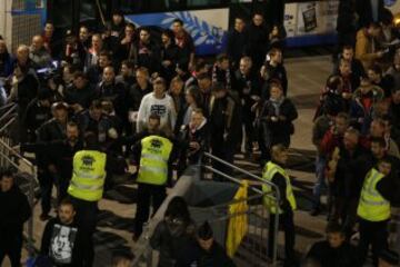
<instances>
[{"instance_id":1,"label":"white graphic print on black top of man at bottom left","mask_svg":"<svg viewBox=\"0 0 400 267\"><path fill-rule=\"evenodd\" d=\"M71 264L77 231L78 229L73 227L54 225L50 241L50 257L56 264Z\"/></svg>"}]
</instances>

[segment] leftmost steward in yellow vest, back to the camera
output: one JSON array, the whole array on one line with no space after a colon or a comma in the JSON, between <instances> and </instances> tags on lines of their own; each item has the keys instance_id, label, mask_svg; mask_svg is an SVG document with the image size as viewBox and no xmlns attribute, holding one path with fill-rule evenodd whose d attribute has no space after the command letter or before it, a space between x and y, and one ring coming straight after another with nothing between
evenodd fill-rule
<instances>
[{"instance_id":1,"label":"leftmost steward in yellow vest, back to the camera","mask_svg":"<svg viewBox=\"0 0 400 267\"><path fill-rule=\"evenodd\" d=\"M68 187L73 206L77 208L77 224L84 233L82 239L88 248L84 266L92 266L93 240L98 201L102 198L106 181L107 155L99 150L97 136L88 132L84 137L84 149L73 156L72 179Z\"/></svg>"}]
</instances>

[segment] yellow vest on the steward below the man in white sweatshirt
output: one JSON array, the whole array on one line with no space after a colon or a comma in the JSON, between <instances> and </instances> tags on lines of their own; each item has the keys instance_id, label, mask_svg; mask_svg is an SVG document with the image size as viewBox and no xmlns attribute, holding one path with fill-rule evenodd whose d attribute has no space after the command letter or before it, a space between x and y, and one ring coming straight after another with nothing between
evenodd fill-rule
<instances>
[{"instance_id":1,"label":"yellow vest on the steward below the man in white sweatshirt","mask_svg":"<svg viewBox=\"0 0 400 267\"><path fill-rule=\"evenodd\" d=\"M166 185L172 142L164 137L148 136L141 140L141 147L138 182Z\"/></svg>"}]
</instances>

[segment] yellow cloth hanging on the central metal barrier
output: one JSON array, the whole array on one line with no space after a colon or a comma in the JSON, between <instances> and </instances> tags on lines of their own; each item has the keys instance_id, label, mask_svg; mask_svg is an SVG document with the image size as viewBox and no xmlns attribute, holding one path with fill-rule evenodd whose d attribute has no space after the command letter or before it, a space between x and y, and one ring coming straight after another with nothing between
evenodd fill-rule
<instances>
[{"instance_id":1,"label":"yellow cloth hanging on the central metal barrier","mask_svg":"<svg viewBox=\"0 0 400 267\"><path fill-rule=\"evenodd\" d=\"M241 240L246 236L248 230L248 215L247 210L249 206L246 201L248 198L248 181L243 180L242 186L239 187L234 195L234 200L242 200L229 206L229 219L228 235L227 235L227 254L229 257L233 257Z\"/></svg>"}]
</instances>

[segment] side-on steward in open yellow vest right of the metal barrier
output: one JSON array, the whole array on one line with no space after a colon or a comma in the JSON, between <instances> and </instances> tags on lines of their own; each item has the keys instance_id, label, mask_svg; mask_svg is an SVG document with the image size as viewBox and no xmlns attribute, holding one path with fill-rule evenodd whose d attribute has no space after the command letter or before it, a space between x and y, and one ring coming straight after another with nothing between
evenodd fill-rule
<instances>
[{"instance_id":1,"label":"side-on steward in open yellow vest right of the metal barrier","mask_svg":"<svg viewBox=\"0 0 400 267\"><path fill-rule=\"evenodd\" d=\"M271 198L264 198L264 205L270 210L270 231L269 231L269 255L272 256L274 243L274 219L279 216L279 227L284 231L284 266L298 266L294 255L294 222L293 210L297 207L293 190L290 184L289 175L282 168L288 160L288 149L278 144L271 149L271 160L267 162L262 171L262 179L273 182L278 186L280 192L280 202L277 205ZM263 185L263 192L271 192L271 187ZM278 206L278 210L277 210Z\"/></svg>"}]
</instances>

